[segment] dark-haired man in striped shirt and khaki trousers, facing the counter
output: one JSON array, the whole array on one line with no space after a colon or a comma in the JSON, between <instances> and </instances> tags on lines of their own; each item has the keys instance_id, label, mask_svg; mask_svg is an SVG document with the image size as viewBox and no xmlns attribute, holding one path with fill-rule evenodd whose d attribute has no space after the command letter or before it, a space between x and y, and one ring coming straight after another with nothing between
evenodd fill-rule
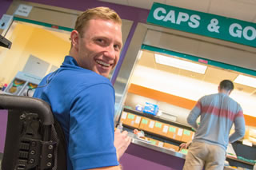
<instances>
[{"instance_id":1,"label":"dark-haired man in striped shirt and khaki trousers, facing the counter","mask_svg":"<svg viewBox=\"0 0 256 170\"><path fill-rule=\"evenodd\" d=\"M234 84L223 80L218 93L201 97L190 111L187 122L196 129L183 170L221 170L229 143L245 134L245 120L241 106L230 98ZM197 119L200 117L200 125ZM234 125L234 133L230 129Z\"/></svg>"}]
</instances>

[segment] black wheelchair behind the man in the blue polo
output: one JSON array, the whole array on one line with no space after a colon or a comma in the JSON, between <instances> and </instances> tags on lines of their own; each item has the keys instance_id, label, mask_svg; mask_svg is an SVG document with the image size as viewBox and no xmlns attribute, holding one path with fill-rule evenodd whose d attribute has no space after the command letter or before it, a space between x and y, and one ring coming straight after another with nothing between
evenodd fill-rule
<instances>
[{"instance_id":1,"label":"black wheelchair behind the man in the blue polo","mask_svg":"<svg viewBox=\"0 0 256 170\"><path fill-rule=\"evenodd\" d=\"M0 109L8 110L2 170L66 169L66 139L50 105L0 94Z\"/></svg>"}]
</instances>

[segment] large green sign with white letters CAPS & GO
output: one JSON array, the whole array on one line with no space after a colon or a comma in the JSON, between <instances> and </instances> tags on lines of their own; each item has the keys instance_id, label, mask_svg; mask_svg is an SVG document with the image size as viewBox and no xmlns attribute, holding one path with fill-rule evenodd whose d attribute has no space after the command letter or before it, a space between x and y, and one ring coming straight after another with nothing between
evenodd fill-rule
<instances>
[{"instance_id":1,"label":"large green sign with white letters CAPS & GO","mask_svg":"<svg viewBox=\"0 0 256 170\"><path fill-rule=\"evenodd\" d=\"M154 2L147 22L256 47L256 24Z\"/></svg>"}]
</instances>

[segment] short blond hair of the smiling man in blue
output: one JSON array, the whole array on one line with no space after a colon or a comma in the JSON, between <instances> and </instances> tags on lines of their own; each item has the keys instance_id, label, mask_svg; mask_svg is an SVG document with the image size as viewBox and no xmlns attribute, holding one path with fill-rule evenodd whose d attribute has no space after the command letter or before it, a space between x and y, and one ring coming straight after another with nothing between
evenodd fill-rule
<instances>
[{"instance_id":1,"label":"short blond hair of the smiling man in blue","mask_svg":"<svg viewBox=\"0 0 256 170\"><path fill-rule=\"evenodd\" d=\"M100 6L91 8L80 14L75 22L74 30L77 30L80 36L83 34L83 28L92 18L101 18L111 20L115 23L122 25L122 19L119 15L108 7Z\"/></svg>"}]
</instances>

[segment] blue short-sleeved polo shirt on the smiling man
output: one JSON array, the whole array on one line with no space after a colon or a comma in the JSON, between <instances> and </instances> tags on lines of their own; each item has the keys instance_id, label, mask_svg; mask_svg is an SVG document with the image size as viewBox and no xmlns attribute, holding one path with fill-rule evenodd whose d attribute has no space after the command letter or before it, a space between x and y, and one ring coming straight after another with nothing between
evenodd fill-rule
<instances>
[{"instance_id":1,"label":"blue short-sleeved polo shirt on the smiling man","mask_svg":"<svg viewBox=\"0 0 256 170\"><path fill-rule=\"evenodd\" d=\"M66 56L34 93L50 104L67 141L68 170L118 165L114 148L114 88L106 77ZM72 168L73 167L73 168Z\"/></svg>"}]
</instances>

